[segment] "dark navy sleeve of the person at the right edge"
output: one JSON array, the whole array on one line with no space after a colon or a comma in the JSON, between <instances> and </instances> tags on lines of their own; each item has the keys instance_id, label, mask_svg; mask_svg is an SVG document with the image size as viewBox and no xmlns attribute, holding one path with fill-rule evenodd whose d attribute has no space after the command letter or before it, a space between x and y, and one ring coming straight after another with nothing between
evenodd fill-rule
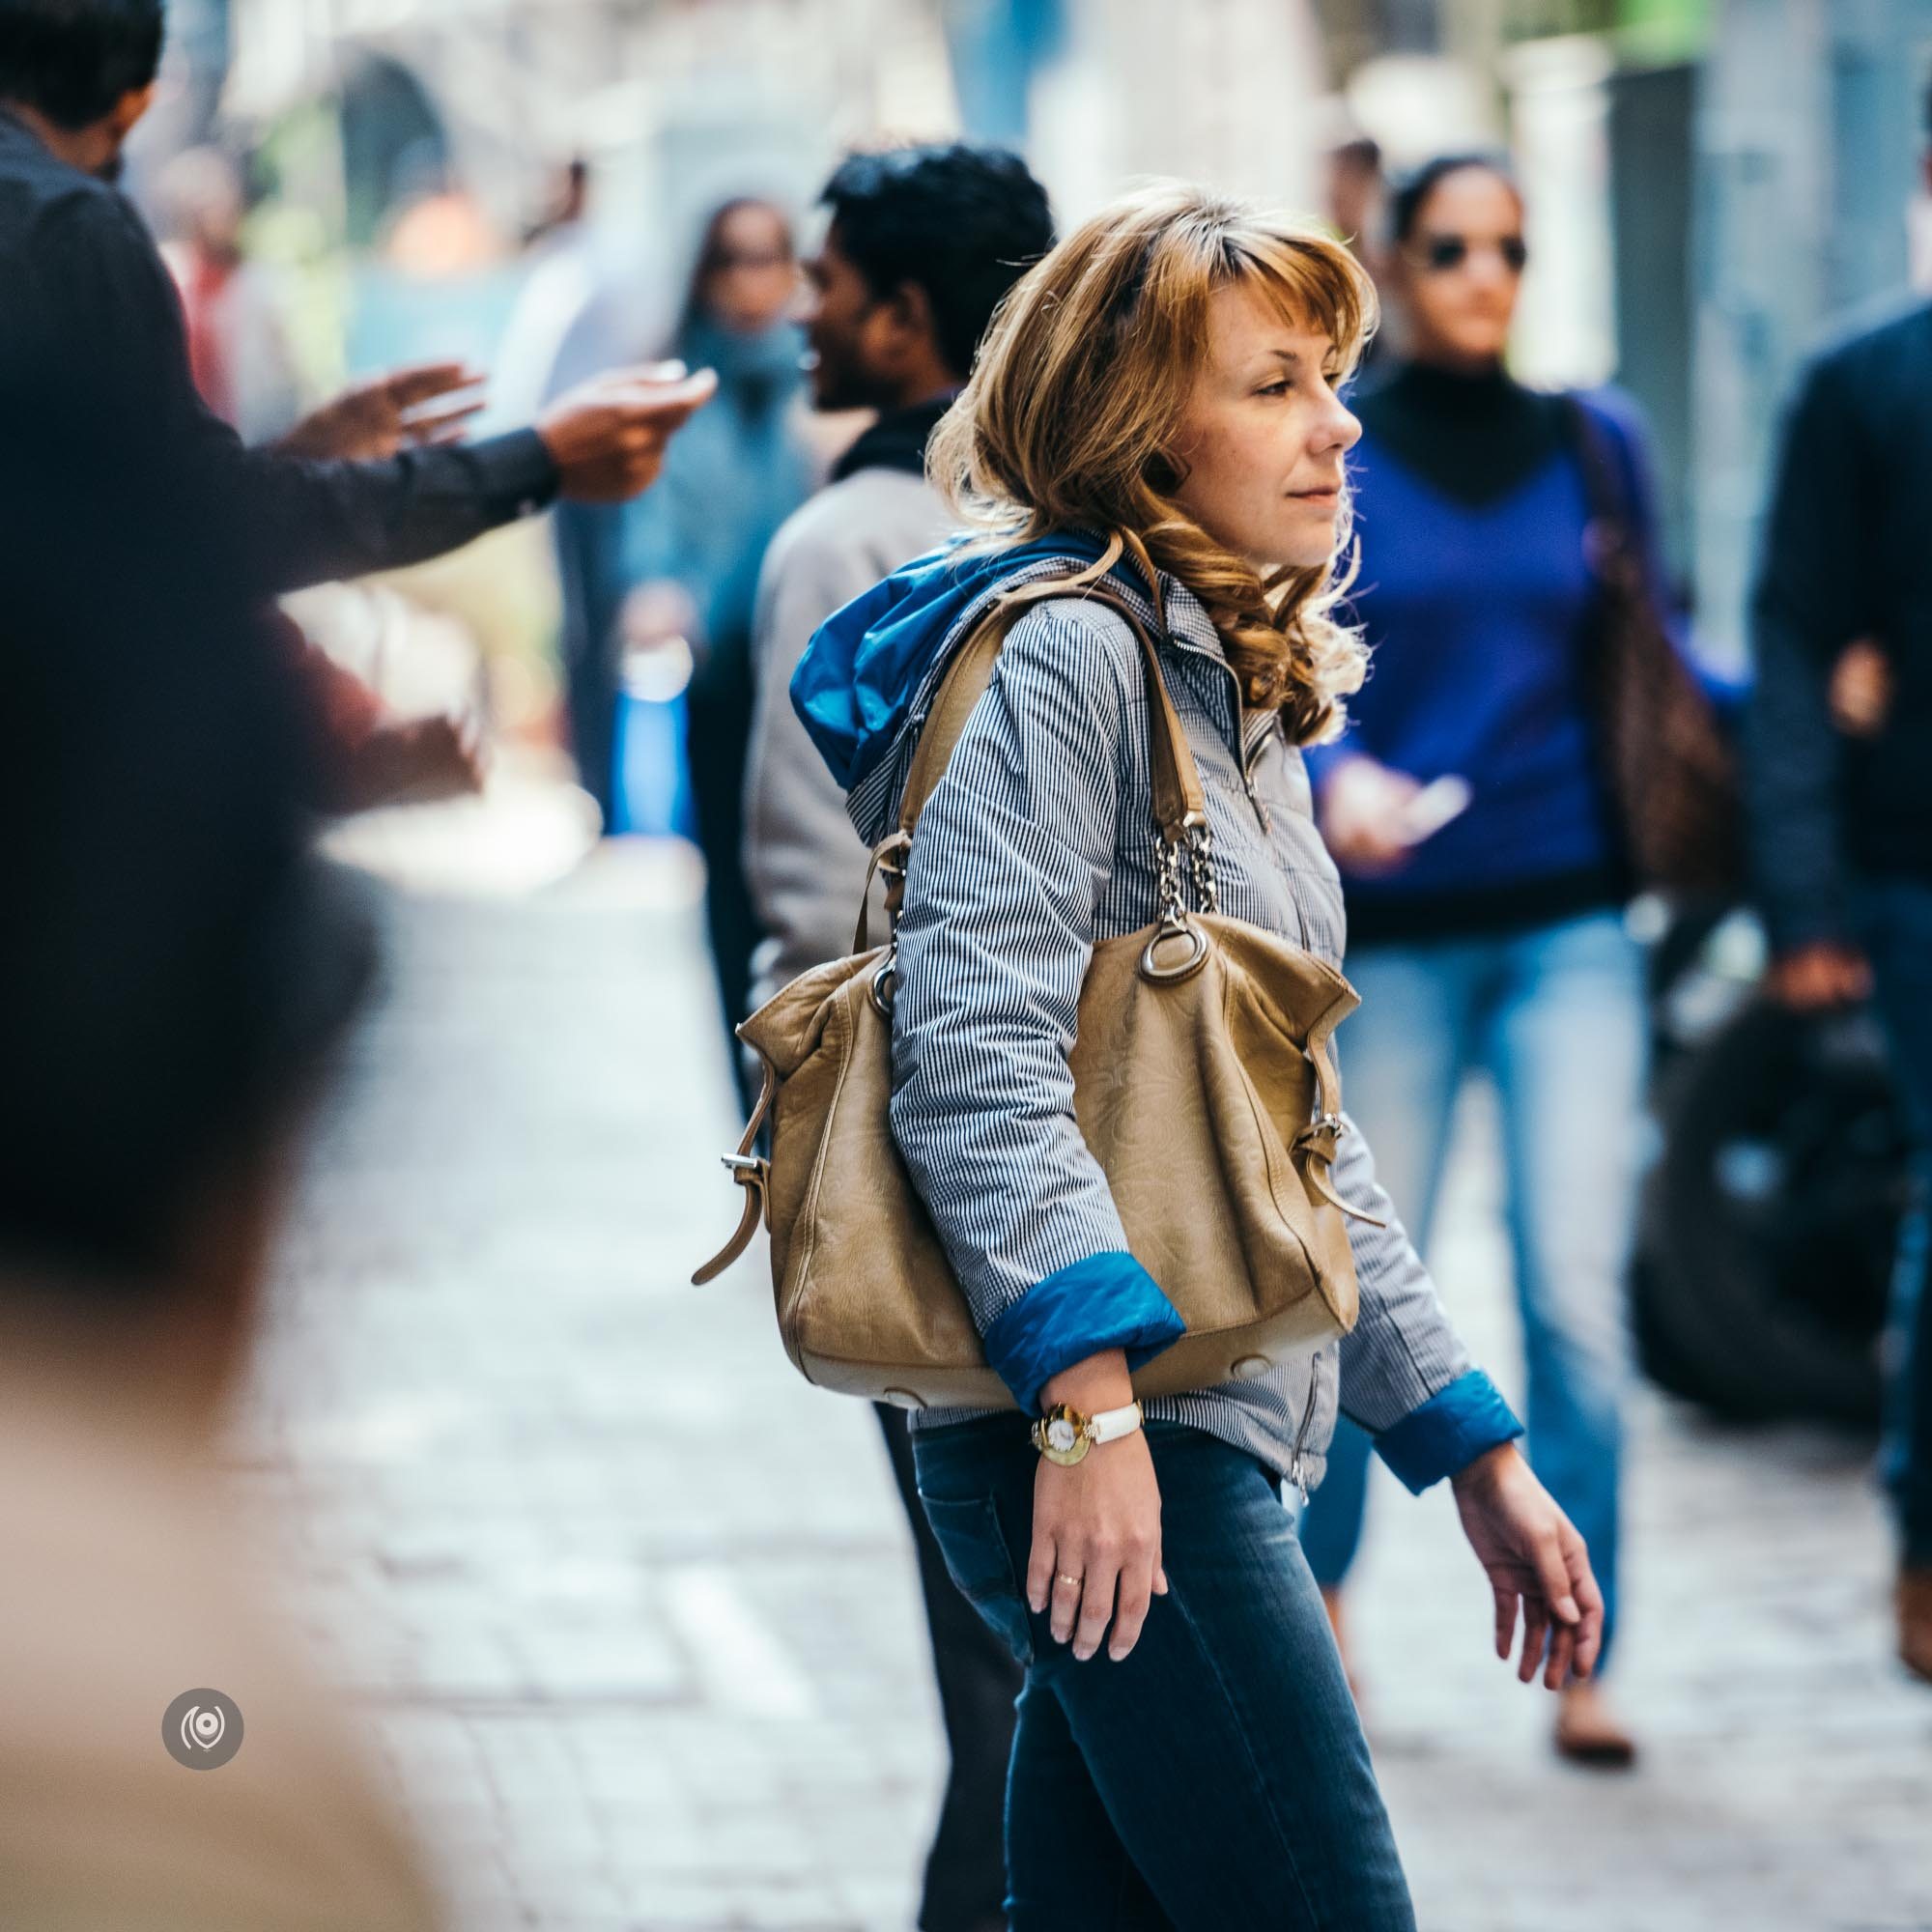
<instances>
[{"instance_id":1,"label":"dark navy sleeve of the person at the right edge","mask_svg":"<svg viewBox=\"0 0 1932 1932\"><path fill-rule=\"evenodd\" d=\"M1843 740L1828 703L1839 651L1872 622L1868 479L1833 361L1804 377L1785 421L1750 601L1756 684L1745 723L1752 879L1772 945L1845 939Z\"/></svg>"}]
</instances>

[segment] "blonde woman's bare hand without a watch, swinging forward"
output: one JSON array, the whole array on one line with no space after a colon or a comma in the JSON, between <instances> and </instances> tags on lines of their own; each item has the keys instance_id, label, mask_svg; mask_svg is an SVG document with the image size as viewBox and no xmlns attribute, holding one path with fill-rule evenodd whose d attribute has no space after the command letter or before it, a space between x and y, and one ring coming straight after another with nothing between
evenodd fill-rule
<instances>
[{"instance_id":1,"label":"blonde woman's bare hand without a watch, swinging forward","mask_svg":"<svg viewBox=\"0 0 1932 1932\"><path fill-rule=\"evenodd\" d=\"M1604 1648L1604 1592L1590 1575L1590 1551L1551 1501L1515 1443L1476 1457L1451 1478L1476 1559L1495 1592L1495 1654L1509 1662L1522 1609L1522 1683L1544 1665L1544 1685L1561 1690L1596 1669ZM1548 1656L1546 1656L1548 1650Z\"/></svg>"}]
</instances>

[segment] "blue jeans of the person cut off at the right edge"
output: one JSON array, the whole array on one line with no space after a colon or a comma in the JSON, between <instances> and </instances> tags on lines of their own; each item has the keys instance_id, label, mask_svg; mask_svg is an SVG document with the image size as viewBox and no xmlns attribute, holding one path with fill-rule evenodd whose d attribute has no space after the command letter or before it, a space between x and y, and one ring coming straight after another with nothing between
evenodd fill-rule
<instances>
[{"instance_id":1,"label":"blue jeans of the person cut off at the right edge","mask_svg":"<svg viewBox=\"0 0 1932 1932\"><path fill-rule=\"evenodd\" d=\"M1932 1567L1932 885L1876 879L1859 893L1878 1016L1915 1142L1917 1202L1899 1231L1886 1333L1880 1466L1899 1515L1905 1563Z\"/></svg>"}]
</instances>

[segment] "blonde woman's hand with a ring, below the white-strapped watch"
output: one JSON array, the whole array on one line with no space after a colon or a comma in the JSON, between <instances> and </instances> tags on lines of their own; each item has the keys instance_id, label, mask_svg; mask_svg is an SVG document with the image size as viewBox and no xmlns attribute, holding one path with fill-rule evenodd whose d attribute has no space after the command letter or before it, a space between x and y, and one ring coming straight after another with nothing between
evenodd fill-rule
<instances>
[{"instance_id":1,"label":"blonde woman's hand with a ring, below the white-strapped watch","mask_svg":"<svg viewBox=\"0 0 1932 1932\"><path fill-rule=\"evenodd\" d=\"M1134 1399L1126 1358L1119 1350L1095 1356L1049 1381L1045 1399L1072 1403L1084 1414L1122 1408ZM1111 1623L1107 1656L1119 1663L1140 1640L1157 1596L1167 1596L1161 1486L1146 1430L1095 1443L1070 1466L1041 1457L1026 1600L1036 1615L1051 1607L1053 1640L1070 1640L1074 1656L1086 1662Z\"/></svg>"}]
</instances>

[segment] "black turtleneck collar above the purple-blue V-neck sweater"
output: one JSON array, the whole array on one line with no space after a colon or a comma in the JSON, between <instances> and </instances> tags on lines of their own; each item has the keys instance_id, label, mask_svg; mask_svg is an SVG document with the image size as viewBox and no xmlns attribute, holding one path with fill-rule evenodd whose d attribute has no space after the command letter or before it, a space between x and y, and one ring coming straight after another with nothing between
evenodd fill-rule
<instances>
[{"instance_id":1,"label":"black turtleneck collar above the purple-blue V-neck sweater","mask_svg":"<svg viewBox=\"0 0 1932 1932\"><path fill-rule=\"evenodd\" d=\"M1461 504L1497 502L1565 446L1563 400L1499 363L1476 373L1401 363L1350 408L1405 469Z\"/></svg>"}]
</instances>

